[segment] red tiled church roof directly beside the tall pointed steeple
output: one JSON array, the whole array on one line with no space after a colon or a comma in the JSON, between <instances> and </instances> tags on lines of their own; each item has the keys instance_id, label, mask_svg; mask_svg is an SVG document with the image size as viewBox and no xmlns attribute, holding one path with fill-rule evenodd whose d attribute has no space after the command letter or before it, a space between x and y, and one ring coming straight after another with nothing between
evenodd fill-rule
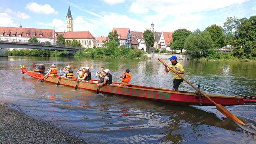
<instances>
[{"instance_id":1,"label":"red tiled church roof directly beside the tall pointed steeple","mask_svg":"<svg viewBox=\"0 0 256 144\"><path fill-rule=\"evenodd\" d=\"M95 37L93 37L93 35L91 35L91 33L88 32L88 31L85 31L85 32L64 32L63 37L65 39L83 39L83 38L95 39Z\"/></svg>"}]
</instances>

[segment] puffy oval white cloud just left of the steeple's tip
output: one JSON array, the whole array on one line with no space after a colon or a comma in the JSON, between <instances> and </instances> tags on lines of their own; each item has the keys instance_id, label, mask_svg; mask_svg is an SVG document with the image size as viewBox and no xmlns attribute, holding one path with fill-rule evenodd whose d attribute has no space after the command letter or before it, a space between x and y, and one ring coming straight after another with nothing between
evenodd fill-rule
<instances>
[{"instance_id":1,"label":"puffy oval white cloud just left of the steeple's tip","mask_svg":"<svg viewBox=\"0 0 256 144\"><path fill-rule=\"evenodd\" d=\"M49 4L39 5L35 2L32 2L28 3L25 8L28 9L29 11L32 11L33 13L58 14L58 11L55 11Z\"/></svg>"}]
</instances>

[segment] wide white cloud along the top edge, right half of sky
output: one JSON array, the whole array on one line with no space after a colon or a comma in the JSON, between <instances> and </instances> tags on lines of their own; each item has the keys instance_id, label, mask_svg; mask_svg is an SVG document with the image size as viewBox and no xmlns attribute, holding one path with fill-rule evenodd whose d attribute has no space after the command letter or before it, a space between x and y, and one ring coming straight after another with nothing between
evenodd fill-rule
<instances>
[{"instance_id":1,"label":"wide white cloud along the top edge, right half of sky","mask_svg":"<svg viewBox=\"0 0 256 144\"><path fill-rule=\"evenodd\" d=\"M246 1L248 0L135 0L130 7L130 11L141 13L141 9L148 8L156 13L168 13L171 16L175 16L177 14L211 11Z\"/></svg>"}]
</instances>

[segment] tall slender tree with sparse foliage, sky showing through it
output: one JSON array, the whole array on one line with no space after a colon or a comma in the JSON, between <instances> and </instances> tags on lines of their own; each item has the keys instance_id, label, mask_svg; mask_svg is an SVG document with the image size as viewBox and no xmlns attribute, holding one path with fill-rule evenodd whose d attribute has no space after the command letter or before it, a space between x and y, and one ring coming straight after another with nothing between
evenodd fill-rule
<instances>
[{"instance_id":1,"label":"tall slender tree with sparse foliage, sky showing through it","mask_svg":"<svg viewBox=\"0 0 256 144\"><path fill-rule=\"evenodd\" d=\"M225 32L225 38L227 40L227 45L230 46L230 49L232 51L233 45L234 45L234 34L235 29L237 29L238 20L236 17L228 17L227 21L224 22L224 32Z\"/></svg>"}]
</instances>

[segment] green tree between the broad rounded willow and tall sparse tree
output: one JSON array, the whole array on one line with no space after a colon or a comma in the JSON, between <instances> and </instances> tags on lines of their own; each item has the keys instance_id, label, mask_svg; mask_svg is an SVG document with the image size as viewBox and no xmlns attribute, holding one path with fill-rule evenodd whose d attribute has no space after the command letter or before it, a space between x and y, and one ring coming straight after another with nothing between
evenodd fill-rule
<instances>
[{"instance_id":1,"label":"green tree between the broad rounded willow and tall sparse tree","mask_svg":"<svg viewBox=\"0 0 256 144\"><path fill-rule=\"evenodd\" d=\"M213 24L207 27L205 30L210 33L214 48L222 48L225 46L224 29L221 26Z\"/></svg>"}]
</instances>

